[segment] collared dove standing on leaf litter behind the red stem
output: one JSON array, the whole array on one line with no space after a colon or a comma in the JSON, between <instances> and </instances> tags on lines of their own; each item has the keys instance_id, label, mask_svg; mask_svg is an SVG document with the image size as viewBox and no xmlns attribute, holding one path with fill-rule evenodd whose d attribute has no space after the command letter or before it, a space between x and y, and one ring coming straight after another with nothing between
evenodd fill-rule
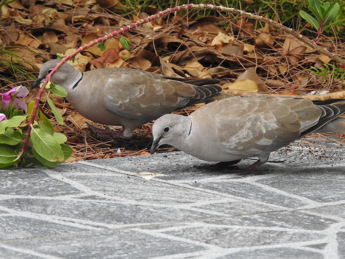
<instances>
[{"instance_id":1,"label":"collared dove standing on leaf litter behind the red stem","mask_svg":"<svg viewBox=\"0 0 345 259\"><path fill-rule=\"evenodd\" d=\"M32 88L39 85L59 60L47 61ZM129 138L142 124L187 106L225 98L219 80L167 77L130 68L101 68L80 73L65 63L51 81L67 90L66 99L84 117L122 126L113 135ZM107 131L109 133L109 131Z\"/></svg>"}]
</instances>

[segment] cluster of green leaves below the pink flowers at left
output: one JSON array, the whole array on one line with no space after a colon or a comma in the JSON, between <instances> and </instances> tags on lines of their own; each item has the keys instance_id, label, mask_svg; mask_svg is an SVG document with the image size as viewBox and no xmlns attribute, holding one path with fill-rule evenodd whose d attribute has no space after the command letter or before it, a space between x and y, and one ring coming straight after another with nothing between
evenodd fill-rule
<instances>
[{"instance_id":1,"label":"cluster of green leaves below the pink flowers at left","mask_svg":"<svg viewBox=\"0 0 345 259\"><path fill-rule=\"evenodd\" d=\"M59 96L67 96L65 89L58 85L49 83L48 89ZM62 116L56 109L54 103L47 96L48 103L57 121L63 124ZM33 112L34 102L28 105L28 114ZM21 109L11 105L1 109L7 120L0 122L0 169L11 166L56 166L65 162L72 155L72 148L64 144L67 137L61 133L54 132L53 125L49 119L39 112L32 125L29 138L29 145L22 153L22 145L26 139L30 115L24 115Z\"/></svg>"}]
</instances>

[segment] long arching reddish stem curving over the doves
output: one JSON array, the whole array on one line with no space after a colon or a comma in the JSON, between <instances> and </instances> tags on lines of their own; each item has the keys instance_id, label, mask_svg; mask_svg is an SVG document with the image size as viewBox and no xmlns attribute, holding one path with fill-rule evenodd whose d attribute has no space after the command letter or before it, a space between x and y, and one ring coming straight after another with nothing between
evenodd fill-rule
<instances>
[{"instance_id":1,"label":"long arching reddish stem curving over the doves","mask_svg":"<svg viewBox=\"0 0 345 259\"><path fill-rule=\"evenodd\" d=\"M253 15L252 13L249 13L249 12L244 12L244 11L241 11L241 10L237 10L235 8L227 8L227 7L223 7L223 6L214 6L213 4L184 4L182 6L176 6L176 7L173 7L173 8L168 8L164 11L161 11L161 12L158 12L157 14L155 15L151 15L145 19L142 19L140 21L136 21L135 23L132 23L131 25L128 25L126 27L123 27L117 31L114 31L112 33L109 33L101 38L98 38L96 40L93 40L93 41L90 41L88 44L85 44L84 46L82 47L79 47L78 49L76 49L75 51L73 51L71 54L67 55L66 57L64 57L60 62L59 64L53 68L53 70L50 72L50 74L47 76L47 78L44 80L43 82L43 85L38 93L38 96L36 97L35 99L35 104L34 104L34 107L33 107L33 112L31 114L31 119L30 119L30 122L29 122L29 128L28 128L28 132L27 132L27 135L26 135L26 138L24 140L24 143L23 143L23 146L21 148L21 153L19 154L19 156L21 156L24 151L25 151L25 148L27 146L27 144L29 143L29 137L30 137L30 132L31 132L31 127L32 127L32 124L34 122L34 119L36 117L36 112L37 112L37 109L38 109L38 103L39 103L39 100L40 98L42 97L42 94L43 94L43 91L48 83L48 81L51 79L51 77L57 72L57 70L59 69L59 67L65 63L67 60L75 57L78 53L80 53L81 51L84 51L86 49L88 49L89 47L92 47L96 44L98 44L99 42L102 42L102 41L106 41L107 39L110 39L112 37L115 37L117 35L121 35L122 33L124 33L125 31L128 31L132 28L135 28L135 27L138 27L140 25L143 25L144 23L146 22L150 22L150 21L153 21L159 17L162 17L168 13L171 13L171 12L176 12L176 11L179 11L179 10L186 10L186 9L197 9L197 8L201 8L201 9L212 9L212 10L219 10L219 11L227 11L227 12L230 12L230 13L235 13L235 14L238 14L238 15L242 15L242 16L246 16L248 17L249 19L254 19L254 20L259 20L259 21L263 21L263 22L266 22L270 25L273 25L275 27L278 27L280 30L284 31L284 32L287 32L288 34L290 35L293 35L295 36L296 38L298 38L299 40L305 42L307 45L311 46L313 49L325 54L326 56L332 58L332 59L335 59L336 61L338 61L338 63L341 63L341 64L344 64L345 65L345 60L341 59L339 56L335 55L335 54L332 54L320 47L318 47L314 42L311 42L310 40L306 39L305 37L303 37L301 34L297 33L296 31L280 24L280 23L277 23L271 19L267 19L263 16L257 16L257 15Z\"/></svg>"}]
</instances>

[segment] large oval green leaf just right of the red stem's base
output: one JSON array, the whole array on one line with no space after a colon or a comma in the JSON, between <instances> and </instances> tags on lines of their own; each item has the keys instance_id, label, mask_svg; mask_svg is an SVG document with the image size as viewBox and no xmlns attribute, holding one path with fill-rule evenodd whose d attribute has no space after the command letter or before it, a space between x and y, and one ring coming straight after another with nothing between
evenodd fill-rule
<instances>
[{"instance_id":1,"label":"large oval green leaf just right of the red stem's base","mask_svg":"<svg viewBox=\"0 0 345 259\"><path fill-rule=\"evenodd\" d=\"M31 141L37 153L51 162L62 162L63 152L59 143L49 133L32 128Z\"/></svg>"}]
</instances>

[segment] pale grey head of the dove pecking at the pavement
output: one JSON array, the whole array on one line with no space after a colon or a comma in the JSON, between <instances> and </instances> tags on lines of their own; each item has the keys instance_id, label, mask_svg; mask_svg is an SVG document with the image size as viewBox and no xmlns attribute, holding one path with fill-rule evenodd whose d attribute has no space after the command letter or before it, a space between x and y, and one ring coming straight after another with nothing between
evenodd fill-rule
<instances>
[{"instance_id":1,"label":"pale grey head of the dove pecking at the pavement","mask_svg":"<svg viewBox=\"0 0 345 259\"><path fill-rule=\"evenodd\" d=\"M166 114L156 120L152 126L153 143L150 153L163 144L168 144L182 150L184 140L191 132L191 120L187 116Z\"/></svg>"}]
</instances>

